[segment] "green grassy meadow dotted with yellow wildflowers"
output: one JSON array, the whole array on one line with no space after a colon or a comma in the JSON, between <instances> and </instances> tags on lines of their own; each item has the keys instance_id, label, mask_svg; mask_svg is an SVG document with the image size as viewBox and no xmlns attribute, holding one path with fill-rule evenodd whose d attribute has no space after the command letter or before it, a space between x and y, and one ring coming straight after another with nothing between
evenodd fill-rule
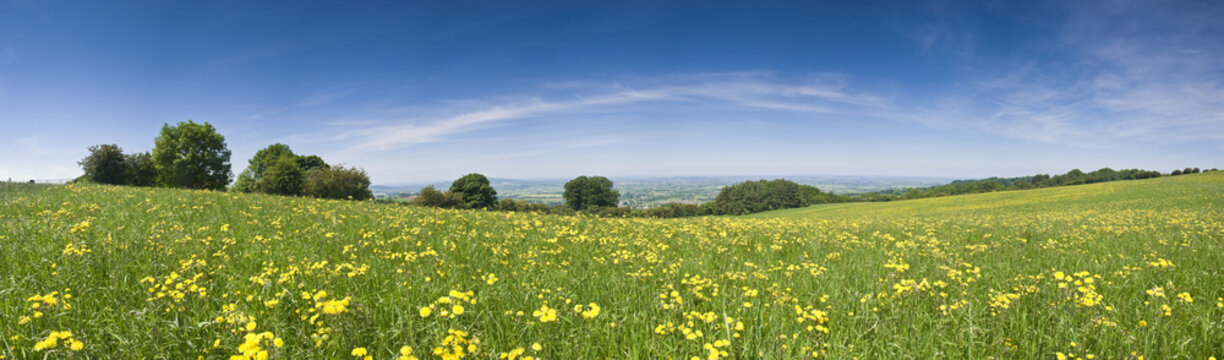
<instances>
[{"instance_id":1,"label":"green grassy meadow dotted with yellow wildflowers","mask_svg":"<svg viewBox=\"0 0 1224 360\"><path fill-rule=\"evenodd\" d=\"M666 220L0 185L0 359L813 356L1224 356L1224 173Z\"/></svg>"}]
</instances>

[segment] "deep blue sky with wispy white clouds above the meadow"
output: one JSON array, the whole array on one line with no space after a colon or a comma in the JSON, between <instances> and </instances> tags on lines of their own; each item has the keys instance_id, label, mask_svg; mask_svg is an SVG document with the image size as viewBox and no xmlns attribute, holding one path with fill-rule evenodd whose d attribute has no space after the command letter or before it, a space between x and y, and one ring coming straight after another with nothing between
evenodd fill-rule
<instances>
[{"instance_id":1,"label":"deep blue sky with wispy white clouds above the meadow","mask_svg":"<svg viewBox=\"0 0 1224 360\"><path fill-rule=\"evenodd\" d=\"M0 2L0 178L187 119L376 184L1224 167L1220 1L350 2Z\"/></svg>"}]
</instances>

